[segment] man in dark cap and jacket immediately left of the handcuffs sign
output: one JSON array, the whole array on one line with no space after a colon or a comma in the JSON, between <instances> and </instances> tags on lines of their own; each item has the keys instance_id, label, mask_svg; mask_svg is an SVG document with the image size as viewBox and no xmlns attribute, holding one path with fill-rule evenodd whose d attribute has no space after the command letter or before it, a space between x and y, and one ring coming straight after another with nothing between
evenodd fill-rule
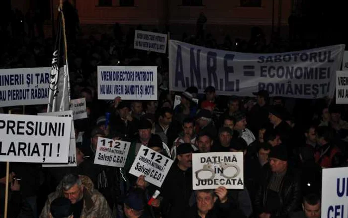
<instances>
[{"instance_id":1,"label":"man in dark cap and jacket immediately left of the handcuffs sign","mask_svg":"<svg viewBox=\"0 0 348 218\"><path fill-rule=\"evenodd\" d=\"M176 162L162 186L163 210L166 218L182 218L189 209L192 192L192 152L190 143L176 148Z\"/></svg>"}]
</instances>

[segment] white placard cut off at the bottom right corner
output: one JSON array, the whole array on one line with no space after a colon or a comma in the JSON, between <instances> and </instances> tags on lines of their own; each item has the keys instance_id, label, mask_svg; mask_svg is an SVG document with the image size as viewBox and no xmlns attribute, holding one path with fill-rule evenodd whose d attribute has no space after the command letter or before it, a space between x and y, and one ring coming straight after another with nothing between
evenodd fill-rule
<instances>
[{"instance_id":1,"label":"white placard cut off at the bottom right corner","mask_svg":"<svg viewBox=\"0 0 348 218\"><path fill-rule=\"evenodd\" d=\"M348 167L323 169L322 218L348 218Z\"/></svg>"}]
</instances>

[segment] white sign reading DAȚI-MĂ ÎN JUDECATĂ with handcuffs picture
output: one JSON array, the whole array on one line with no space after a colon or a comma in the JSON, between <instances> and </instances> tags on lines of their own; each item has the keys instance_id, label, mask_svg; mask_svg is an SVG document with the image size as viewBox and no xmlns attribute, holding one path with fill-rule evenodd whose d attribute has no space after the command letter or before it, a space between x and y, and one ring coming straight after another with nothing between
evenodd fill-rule
<instances>
[{"instance_id":1,"label":"white sign reading DA\u021aI-M\u0102 \u00ceN JUDECAT\u0102 with handcuffs picture","mask_svg":"<svg viewBox=\"0 0 348 218\"><path fill-rule=\"evenodd\" d=\"M192 154L193 190L244 189L243 152Z\"/></svg>"}]
</instances>

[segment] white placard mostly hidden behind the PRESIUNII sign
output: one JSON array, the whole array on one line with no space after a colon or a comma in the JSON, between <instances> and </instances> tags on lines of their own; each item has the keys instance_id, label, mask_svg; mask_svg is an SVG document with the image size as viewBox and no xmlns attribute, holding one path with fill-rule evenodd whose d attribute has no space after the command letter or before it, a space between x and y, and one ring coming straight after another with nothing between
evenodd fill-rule
<instances>
[{"instance_id":1,"label":"white placard mostly hidden behind the PRESIUNII sign","mask_svg":"<svg viewBox=\"0 0 348 218\"><path fill-rule=\"evenodd\" d=\"M64 117L73 117L72 110L66 111L57 111L49 113L38 113L42 116L64 116ZM71 120L71 131L70 131L70 143L69 143L69 158L66 164L43 164L42 167L76 167L76 139L75 139L75 127L74 121Z\"/></svg>"}]
</instances>

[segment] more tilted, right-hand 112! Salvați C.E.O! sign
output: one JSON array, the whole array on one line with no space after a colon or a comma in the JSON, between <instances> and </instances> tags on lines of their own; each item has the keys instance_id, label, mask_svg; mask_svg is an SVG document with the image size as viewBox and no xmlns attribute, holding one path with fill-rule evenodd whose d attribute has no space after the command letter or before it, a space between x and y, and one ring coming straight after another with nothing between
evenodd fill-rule
<instances>
[{"instance_id":1,"label":"more tilted, right-hand 112! Salva\u021bi C.E.O! sign","mask_svg":"<svg viewBox=\"0 0 348 218\"><path fill-rule=\"evenodd\" d=\"M172 164L172 159L142 145L129 173L137 177L145 175L145 181L161 187Z\"/></svg>"}]
</instances>

